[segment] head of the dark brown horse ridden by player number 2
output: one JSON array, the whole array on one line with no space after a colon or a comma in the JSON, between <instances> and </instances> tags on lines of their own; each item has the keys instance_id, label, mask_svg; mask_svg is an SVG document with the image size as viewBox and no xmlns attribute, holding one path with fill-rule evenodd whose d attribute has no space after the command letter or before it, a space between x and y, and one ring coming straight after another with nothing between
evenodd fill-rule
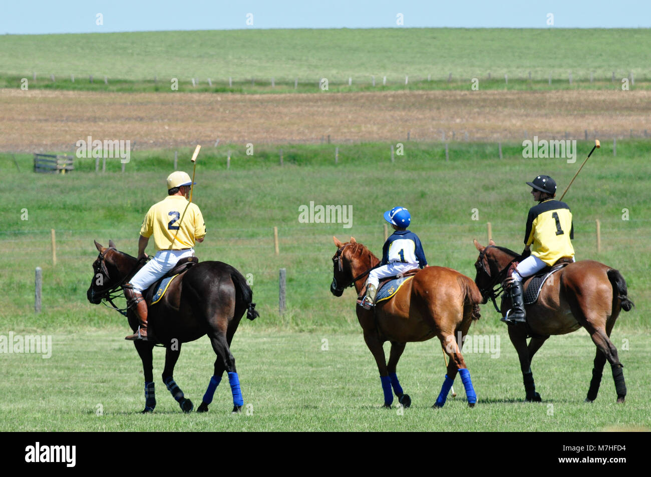
<instances>
[{"instance_id":1,"label":"head of the dark brown horse ridden by player number 2","mask_svg":"<svg viewBox=\"0 0 651 477\"><path fill-rule=\"evenodd\" d=\"M133 263L130 262L135 259L118 251L113 240L109 240L108 247L100 245L97 241L94 242L100 254L92 263L93 277L86 297L90 303L98 305L107 293L124 282L129 269L133 267Z\"/></svg>"}]
</instances>

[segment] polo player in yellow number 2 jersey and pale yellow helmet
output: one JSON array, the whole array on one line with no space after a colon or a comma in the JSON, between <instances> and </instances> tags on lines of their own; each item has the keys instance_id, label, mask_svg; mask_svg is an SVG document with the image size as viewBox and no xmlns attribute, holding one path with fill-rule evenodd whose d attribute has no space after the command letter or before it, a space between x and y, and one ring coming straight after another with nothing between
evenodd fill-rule
<instances>
[{"instance_id":1,"label":"polo player in yellow number 2 jersey and pale yellow helmet","mask_svg":"<svg viewBox=\"0 0 651 477\"><path fill-rule=\"evenodd\" d=\"M147 258L145 249L154 236L156 255L124 285L128 308L135 307L140 320L138 331L125 340L147 339L147 304L143 290L173 269L181 258L194 256L195 241L206 236L206 224L197 204L188 202L193 182L186 172L177 170L167 177L167 197L154 204L143 221L138 241L138 260ZM194 183L196 184L196 182Z\"/></svg>"}]
</instances>

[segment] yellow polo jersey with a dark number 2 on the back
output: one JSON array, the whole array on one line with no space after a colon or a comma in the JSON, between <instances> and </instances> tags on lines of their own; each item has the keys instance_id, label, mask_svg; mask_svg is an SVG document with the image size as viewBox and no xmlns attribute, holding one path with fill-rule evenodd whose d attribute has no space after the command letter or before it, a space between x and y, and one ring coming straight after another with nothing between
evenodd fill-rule
<instances>
[{"instance_id":1,"label":"yellow polo jersey with a dark number 2 on the back","mask_svg":"<svg viewBox=\"0 0 651 477\"><path fill-rule=\"evenodd\" d=\"M171 250L190 249L195 246L196 239L206 235L206 224L197 204L181 195L168 195L151 206L140 234L146 238L154 236L156 251L169 250L174 236L176 240Z\"/></svg>"}]
</instances>

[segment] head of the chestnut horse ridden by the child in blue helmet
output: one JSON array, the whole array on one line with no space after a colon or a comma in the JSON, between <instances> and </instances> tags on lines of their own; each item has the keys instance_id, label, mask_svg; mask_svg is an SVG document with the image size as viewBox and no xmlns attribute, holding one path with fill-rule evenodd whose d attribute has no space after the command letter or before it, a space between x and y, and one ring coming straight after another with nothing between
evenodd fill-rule
<instances>
[{"instance_id":1,"label":"head of the chestnut horse ridden by the child in blue helmet","mask_svg":"<svg viewBox=\"0 0 651 477\"><path fill-rule=\"evenodd\" d=\"M330 292L335 297L340 297L346 288L353 286L355 282L368 273L367 269L378 264L379 260L354 237L350 241L342 243L333 237L337 252L332 258L333 262L333 279L330 284ZM367 273L359 275L363 270Z\"/></svg>"}]
</instances>

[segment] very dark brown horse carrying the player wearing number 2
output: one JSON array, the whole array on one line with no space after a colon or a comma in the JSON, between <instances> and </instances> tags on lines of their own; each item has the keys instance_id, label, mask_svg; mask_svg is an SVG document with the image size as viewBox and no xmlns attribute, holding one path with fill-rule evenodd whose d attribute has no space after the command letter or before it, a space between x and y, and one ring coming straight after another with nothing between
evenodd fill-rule
<instances>
[{"instance_id":1,"label":"very dark brown horse carrying the player wearing number 2","mask_svg":"<svg viewBox=\"0 0 651 477\"><path fill-rule=\"evenodd\" d=\"M139 262L136 258L118 251L112 240L109 240L109 247L102 247L95 241L95 247L100 255L92 264L94 277L90 282L87 298L94 305L98 305L102 300L113 305L113 299L118 296L113 293L128 283L143 267L145 261ZM232 412L242 411L244 404L242 390L235 368L235 358L230 352L230 342L244 312L247 312L249 320L255 320L259 316L255 310L255 303L251 303L252 298L253 292L242 274L223 262L200 262L171 281L163 298L156 305L149 307L147 329L149 340L133 342L145 372L143 413L153 412L156 407L152 374L152 349L156 344L162 344L167 348L163 383L184 412L189 413L193 410L193 403L184 396L183 391L174 382L174 365L181 352L181 344L197 340L204 334L208 334L217 359L214 374L210 378L208 389L197 412L208 411L208 405L212 402L224 371L229 375L233 396ZM133 309L129 308L125 313L115 306L111 308L127 316L129 325L135 333L139 320Z\"/></svg>"}]
</instances>

